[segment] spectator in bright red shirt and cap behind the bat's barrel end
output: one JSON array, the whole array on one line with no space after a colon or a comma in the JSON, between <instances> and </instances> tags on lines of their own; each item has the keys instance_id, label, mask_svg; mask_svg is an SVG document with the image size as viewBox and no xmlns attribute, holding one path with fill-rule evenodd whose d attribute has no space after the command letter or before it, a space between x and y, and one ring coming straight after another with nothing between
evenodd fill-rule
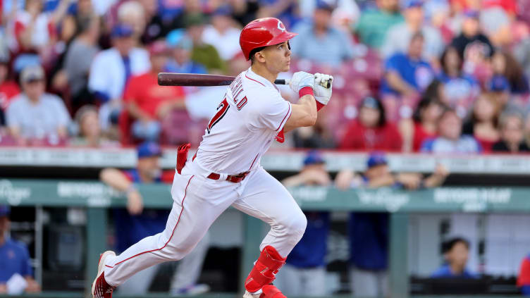
<instances>
[{"instance_id":1,"label":"spectator in bright red shirt and cap behind the bat's barrel end","mask_svg":"<svg viewBox=\"0 0 530 298\"><path fill-rule=\"evenodd\" d=\"M157 75L164 71L168 58L165 42L154 42L149 46L151 70L143 75L131 77L125 88L124 100L135 119L132 135L137 139L156 141L161 132L160 121L173 109L185 109L182 87L162 87Z\"/></svg>"}]
</instances>

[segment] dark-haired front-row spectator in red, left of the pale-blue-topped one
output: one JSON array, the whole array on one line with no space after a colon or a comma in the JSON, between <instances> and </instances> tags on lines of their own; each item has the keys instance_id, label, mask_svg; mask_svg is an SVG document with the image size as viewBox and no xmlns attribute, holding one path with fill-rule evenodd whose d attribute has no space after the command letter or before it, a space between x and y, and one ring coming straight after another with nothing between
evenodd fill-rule
<instances>
[{"instance_id":1,"label":"dark-haired front-row spectator in red, left of the pale-blue-topped one","mask_svg":"<svg viewBox=\"0 0 530 298\"><path fill-rule=\"evenodd\" d=\"M403 137L403 151L417 152L421 144L429 138L436 137L438 119L443 111L443 104L433 97L424 97L419 101L413 119L400 120L400 132Z\"/></svg>"}]
</instances>

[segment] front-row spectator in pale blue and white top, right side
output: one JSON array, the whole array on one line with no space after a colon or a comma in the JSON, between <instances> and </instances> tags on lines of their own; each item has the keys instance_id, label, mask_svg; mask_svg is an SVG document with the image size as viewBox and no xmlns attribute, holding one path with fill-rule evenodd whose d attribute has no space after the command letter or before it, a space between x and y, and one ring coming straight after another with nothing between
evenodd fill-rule
<instances>
[{"instance_id":1,"label":"front-row spectator in pale blue and white top, right side","mask_svg":"<svg viewBox=\"0 0 530 298\"><path fill-rule=\"evenodd\" d=\"M432 153L480 153L479 142L471 135L462 135L462 119L456 111L445 108L438 121L438 137L426 139L422 152Z\"/></svg>"}]
</instances>

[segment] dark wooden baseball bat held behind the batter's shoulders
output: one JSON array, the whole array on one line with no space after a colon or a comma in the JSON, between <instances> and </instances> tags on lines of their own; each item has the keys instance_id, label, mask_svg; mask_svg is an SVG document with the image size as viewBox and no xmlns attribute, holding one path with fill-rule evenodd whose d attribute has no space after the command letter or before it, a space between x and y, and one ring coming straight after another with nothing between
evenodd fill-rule
<instances>
[{"instance_id":1,"label":"dark wooden baseball bat held behind the batter's shoulders","mask_svg":"<svg viewBox=\"0 0 530 298\"><path fill-rule=\"evenodd\" d=\"M202 75L197 73L159 73L161 86L226 86L230 85L235 77L230 75ZM276 85L289 85L289 80L275 80ZM329 88L330 82L323 83Z\"/></svg>"}]
</instances>

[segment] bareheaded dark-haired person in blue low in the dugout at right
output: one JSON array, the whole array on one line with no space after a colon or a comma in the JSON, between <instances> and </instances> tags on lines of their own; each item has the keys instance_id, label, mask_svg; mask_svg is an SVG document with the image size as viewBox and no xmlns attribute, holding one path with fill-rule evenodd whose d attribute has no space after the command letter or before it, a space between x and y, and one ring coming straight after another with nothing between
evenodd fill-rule
<instances>
[{"instance_id":1,"label":"bareheaded dark-haired person in blue low in the dugout at right","mask_svg":"<svg viewBox=\"0 0 530 298\"><path fill-rule=\"evenodd\" d=\"M445 264L431 274L431 278L477 278L475 273L467 270L469 242L456 237L443 244Z\"/></svg>"}]
</instances>

